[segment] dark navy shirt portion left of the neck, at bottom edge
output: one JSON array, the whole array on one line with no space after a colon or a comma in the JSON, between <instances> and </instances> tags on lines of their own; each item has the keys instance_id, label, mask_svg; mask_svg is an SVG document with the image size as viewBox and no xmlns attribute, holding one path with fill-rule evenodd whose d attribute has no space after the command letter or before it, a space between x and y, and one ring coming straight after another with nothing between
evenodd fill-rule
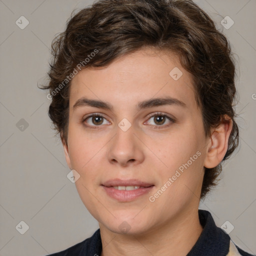
<instances>
[{"instance_id":1,"label":"dark navy shirt portion left of the neck, at bottom edge","mask_svg":"<svg viewBox=\"0 0 256 256\"><path fill-rule=\"evenodd\" d=\"M100 231L97 229L91 237L84 239L83 241L68 247L65 250L48 254L47 256L82 256L82 255L94 255L101 253L101 239Z\"/></svg>"}]
</instances>

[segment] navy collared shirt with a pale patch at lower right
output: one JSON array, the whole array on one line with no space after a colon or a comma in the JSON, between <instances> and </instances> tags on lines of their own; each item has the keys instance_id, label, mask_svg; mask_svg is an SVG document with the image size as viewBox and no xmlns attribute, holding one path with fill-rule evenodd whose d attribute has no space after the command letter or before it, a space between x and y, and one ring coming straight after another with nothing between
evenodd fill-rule
<instances>
[{"instance_id":1,"label":"navy collared shirt with a pale patch at lower right","mask_svg":"<svg viewBox=\"0 0 256 256\"><path fill-rule=\"evenodd\" d=\"M209 211L199 209L198 214L203 230L187 256L253 256L235 245L229 235L215 225ZM91 237L50 256L100 256L101 250L100 230L97 229Z\"/></svg>"}]
</instances>

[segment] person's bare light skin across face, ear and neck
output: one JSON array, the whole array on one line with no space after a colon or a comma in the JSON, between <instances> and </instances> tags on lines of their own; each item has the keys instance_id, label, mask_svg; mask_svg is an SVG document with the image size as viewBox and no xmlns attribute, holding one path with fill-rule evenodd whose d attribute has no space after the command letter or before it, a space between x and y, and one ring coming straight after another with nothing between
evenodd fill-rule
<instances>
[{"instance_id":1,"label":"person's bare light skin across face, ear and neck","mask_svg":"<svg viewBox=\"0 0 256 256\"><path fill-rule=\"evenodd\" d=\"M169 75L174 67L183 73L178 80ZM139 101L166 95L186 106L136 109ZM73 109L81 97L107 101L113 109ZM157 112L175 122L165 118L159 125L149 117ZM83 121L92 113L103 115L100 125L93 117ZM131 124L125 132L118 127L123 118ZM227 120L210 137L204 136L191 75L171 52L143 48L107 67L79 71L71 81L68 137L62 143L69 168L80 175L75 182L79 196L99 222L101 256L186 255L202 231L198 205L204 167L212 168L223 159L231 128L232 121ZM149 201L197 151L201 155L154 202ZM137 178L154 187L132 201L119 202L100 186L112 178ZM129 225L126 233L118 227L123 221Z\"/></svg>"}]
</instances>

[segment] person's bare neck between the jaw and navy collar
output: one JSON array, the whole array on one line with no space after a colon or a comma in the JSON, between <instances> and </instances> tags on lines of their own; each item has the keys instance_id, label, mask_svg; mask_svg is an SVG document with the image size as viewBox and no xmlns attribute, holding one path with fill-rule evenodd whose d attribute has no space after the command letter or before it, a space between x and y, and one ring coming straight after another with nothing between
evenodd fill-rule
<instances>
[{"instance_id":1,"label":"person's bare neck between the jaw and navy collar","mask_svg":"<svg viewBox=\"0 0 256 256\"><path fill-rule=\"evenodd\" d=\"M177 216L146 233L116 234L99 224L102 241L100 256L186 255L202 232L198 208Z\"/></svg>"}]
</instances>

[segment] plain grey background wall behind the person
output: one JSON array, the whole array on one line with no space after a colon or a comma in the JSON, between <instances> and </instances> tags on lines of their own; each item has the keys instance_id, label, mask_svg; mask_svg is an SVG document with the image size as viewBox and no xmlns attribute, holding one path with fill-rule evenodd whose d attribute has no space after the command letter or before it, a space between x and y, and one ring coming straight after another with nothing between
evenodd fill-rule
<instances>
[{"instance_id":1,"label":"plain grey background wall behind the person","mask_svg":"<svg viewBox=\"0 0 256 256\"><path fill-rule=\"evenodd\" d=\"M228 220L232 240L256 254L255 9L256 0L197 0L229 39L236 53L236 105L240 146L223 164L222 180L200 208L218 226ZM74 8L91 0L0 0L0 255L45 255L82 241L98 228L81 202L62 145L47 116L45 83L54 34ZM29 24L20 29L21 16ZM220 21L230 16L234 24ZM24 23L23 23L24 24ZM254 98L254 99L253 99ZM25 125L25 119L28 126ZM19 122L18 122L19 121ZM18 123L18 124L16 124ZM23 129L23 130L22 130ZM29 229L15 228L23 220Z\"/></svg>"}]
</instances>

